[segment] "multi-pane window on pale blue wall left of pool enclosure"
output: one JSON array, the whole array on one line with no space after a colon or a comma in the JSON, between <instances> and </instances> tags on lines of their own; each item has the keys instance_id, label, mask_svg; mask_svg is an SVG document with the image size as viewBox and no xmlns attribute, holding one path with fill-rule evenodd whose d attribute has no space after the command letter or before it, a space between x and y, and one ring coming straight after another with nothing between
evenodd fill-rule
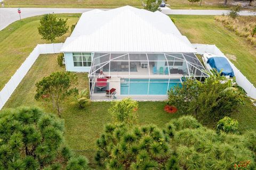
<instances>
[{"instance_id":1,"label":"multi-pane window on pale blue wall left of pool enclosure","mask_svg":"<svg viewBox=\"0 0 256 170\"><path fill-rule=\"evenodd\" d=\"M90 67L92 64L91 53L73 53L75 67Z\"/></svg>"}]
</instances>

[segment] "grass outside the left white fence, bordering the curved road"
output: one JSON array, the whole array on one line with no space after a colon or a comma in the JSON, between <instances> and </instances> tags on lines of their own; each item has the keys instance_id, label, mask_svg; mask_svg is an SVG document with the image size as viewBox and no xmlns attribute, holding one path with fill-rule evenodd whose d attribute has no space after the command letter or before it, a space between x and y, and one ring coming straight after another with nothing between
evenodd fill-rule
<instances>
[{"instance_id":1,"label":"grass outside the left white fence, bordering the curved road","mask_svg":"<svg viewBox=\"0 0 256 170\"><path fill-rule=\"evenodd\" d=\"M67 18L68 25L76 23L80 15L57 14L58 17ZM50 41L42 40L38 35L37 27L40 18L41 16L35 16L22 19L0 31L0 90L37 44L50 43ZM56 43L64 42L69 34L57 38Z\"/></svg>"}]
</instances>

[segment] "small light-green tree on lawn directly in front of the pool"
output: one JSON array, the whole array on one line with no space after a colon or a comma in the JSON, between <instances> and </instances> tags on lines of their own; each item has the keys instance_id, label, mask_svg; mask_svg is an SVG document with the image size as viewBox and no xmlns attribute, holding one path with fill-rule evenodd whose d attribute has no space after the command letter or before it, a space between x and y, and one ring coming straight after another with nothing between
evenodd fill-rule
<instances>
[{"instance_id":1,"label":"small light-green tree on lawn directly in front of the pool","mask_svg":"<svg viewBox=\"0 0 256 170\"><path fill-rule=\"evenodd\" d=\"M114 101L108 112L116 123L133 124L137 121L138 102L131 98Z\"/></svg>"}]
</instances>

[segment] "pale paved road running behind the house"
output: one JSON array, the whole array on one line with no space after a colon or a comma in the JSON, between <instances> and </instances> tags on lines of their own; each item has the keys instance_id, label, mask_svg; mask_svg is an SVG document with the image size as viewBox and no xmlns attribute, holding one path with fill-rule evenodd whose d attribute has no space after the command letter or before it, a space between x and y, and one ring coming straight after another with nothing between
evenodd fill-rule
<instances>
[{"instance_id":1,"label":"pale paved road running behind the house","mask_svg":"<svg viewBox=\"0 0 256 170\"><path fill-rule=\"evenodd\" d=\"M21 8L21 19L30 16L42 15L46 13L83 13L92 8ZM108 9L101 9L108 10ZM162 8L164 14L182 14L182 15L222 15L228 13L228 10L171 10L168 7ZM256 15L255 12L242 11L240 15ZM4 29L10 23L19 20L17 8L0 7L0 30Z\"/></svg>"}]
</instances>

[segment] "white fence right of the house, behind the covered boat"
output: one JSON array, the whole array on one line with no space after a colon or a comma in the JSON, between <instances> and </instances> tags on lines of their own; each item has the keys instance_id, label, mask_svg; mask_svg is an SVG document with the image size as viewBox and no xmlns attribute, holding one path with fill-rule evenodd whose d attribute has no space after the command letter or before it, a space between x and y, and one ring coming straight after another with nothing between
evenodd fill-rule
<instances>
[{"instance_id":1,"label":"white fence right of the house, behind the covered boat","mask_svg":"<svg viewBox=\"0 0 256 170\"><path fill-rule=\"evenodd\" d=\"M207 45L207 44L192 44L193 47L197 50L198 54L211 53L218 56L226 57L219 48L215 45ZM226 57L227 58L227 57ZM256 99L256 88L253 84L246 79L246 77L237 69L237 67L229 61L236 77L236 82L239 86L241 86L251 98Z\"/></svg>"}]
</instances>

